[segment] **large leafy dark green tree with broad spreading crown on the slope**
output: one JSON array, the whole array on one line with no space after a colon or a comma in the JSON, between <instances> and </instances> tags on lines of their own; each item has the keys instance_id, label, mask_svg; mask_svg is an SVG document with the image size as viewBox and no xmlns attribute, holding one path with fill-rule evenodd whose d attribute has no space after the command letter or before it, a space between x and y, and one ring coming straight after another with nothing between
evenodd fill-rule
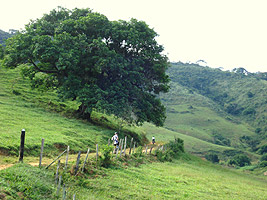
<instances>
[{"instance_id":1,"label":"large leafy dark green tree with broad spreading crown on the slope","mask_svg":"<svg viewBox=\"0 0 267 200\"><path fill-rule=\"evenodd\" d=\"M158 95L169 89L168 59L156 37L143 21L59 7L7 41L5 63L27 63L24 74L33 86L80 102L85 117L100 109L130 123L163 125Z\"/></svg>"}]
</instances>

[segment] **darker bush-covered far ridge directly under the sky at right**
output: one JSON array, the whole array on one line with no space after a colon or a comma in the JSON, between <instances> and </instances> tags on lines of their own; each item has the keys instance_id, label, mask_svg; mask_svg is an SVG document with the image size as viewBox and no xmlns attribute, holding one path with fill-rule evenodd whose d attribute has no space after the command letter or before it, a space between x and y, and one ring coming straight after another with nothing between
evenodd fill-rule
<instances>
[{"instance_id":1,"label":"darker bush-covered far ridge directly under the sky at right","mask_svg":"<svg viewBox=\"0 0 267 200\"><path fill-rule=\"evenodd\" d=\"M267 131L267 81L258 74L224 72L195 64L175 63L169 70L175 84L210 99L227 114ZM266 129L266 130L265 130Z\"/></svg>"}]
</instances>

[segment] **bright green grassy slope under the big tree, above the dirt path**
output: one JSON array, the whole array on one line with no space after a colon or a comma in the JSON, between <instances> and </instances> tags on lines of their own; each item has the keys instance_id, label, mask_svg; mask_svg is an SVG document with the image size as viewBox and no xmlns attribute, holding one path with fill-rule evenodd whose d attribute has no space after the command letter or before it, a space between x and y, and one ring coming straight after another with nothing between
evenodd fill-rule
<instances>
[{"instance_id":1,"label":"bright green grassy slope under the big tree, above the dirt path","mask_svg":"<svg viewBox=\"0 0 267 200\"><path fill-rule=\"evenodd\" d=\"M72 151L107 143L118 125L112 118L94 113L94 123L73 117L77 105L60 102L55 92L32 90L20 76L19 68L0 67L0 152L18 155L21 129L26 130L26 154L39 154L41 139L45 139L45 153L70 146ZM106 128L105 128L106 127ZM136 129L126 127L124 134L136 140Z\"/></svg>"}]
</instances>

